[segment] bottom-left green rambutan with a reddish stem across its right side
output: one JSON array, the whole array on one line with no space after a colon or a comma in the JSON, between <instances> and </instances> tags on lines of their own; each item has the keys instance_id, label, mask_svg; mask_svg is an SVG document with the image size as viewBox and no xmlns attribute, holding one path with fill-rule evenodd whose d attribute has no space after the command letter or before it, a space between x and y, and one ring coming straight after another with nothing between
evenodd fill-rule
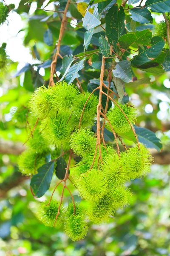
<instances>
[{"instance_id":1,"label":"bottom-left green rambutan with a reddish stem across its right side","mask_svg":"<svg viewBox=\"0 0 170 256\"><path fill-rule=\"evenodd\" d=\"M56 200L51 200L48 205L48 201L40 204L40 209L37 212L38 219L47 227L53 227L58 212L59 203ZM63 208L59 209L59 215L55 227L60 227L63 222Z\"/></svg>"}]
</instances>

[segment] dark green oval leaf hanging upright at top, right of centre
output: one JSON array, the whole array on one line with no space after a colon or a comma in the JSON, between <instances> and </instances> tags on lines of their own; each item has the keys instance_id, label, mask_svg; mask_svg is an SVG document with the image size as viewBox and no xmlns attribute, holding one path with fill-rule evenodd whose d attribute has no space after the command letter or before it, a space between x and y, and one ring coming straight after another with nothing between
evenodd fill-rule
<instances>
[{"instance_id":1,"label":"dark green oval leaf hanging upright at top, right of centre","mask_svg":"<svg viewBox=\"0 0 170 256\"><path fill-rule=\"evenodd\" d=\"M122 6L120 9L117 5L114 5L109 9L106 14L106 35L109 44L116 48L116 44L121 37L126 33L125 29L125 12Z\"/></svg>"}]
</instances>

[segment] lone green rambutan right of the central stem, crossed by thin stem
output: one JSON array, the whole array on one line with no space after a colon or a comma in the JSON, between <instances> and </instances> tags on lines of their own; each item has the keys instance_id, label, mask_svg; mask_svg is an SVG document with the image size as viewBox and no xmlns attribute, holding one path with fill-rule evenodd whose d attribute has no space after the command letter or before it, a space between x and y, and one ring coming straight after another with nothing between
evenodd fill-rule
<instances>
[{"instance_id":1,"label":"lone green rambutan right of the central stem, crossed by thin stem","mask_svg":"<svg viewBox=\"0 0 170 256\"><path fill-rule=\"evenodd\" d=\"M128 104L122 105L119 103L118 105L122 111L124 111L130 123L134 124L136 121L136 109L130 107ZM114 108L110 109L107 113L108 120L111 123L113 130L117 134L125 133L126 131L130 130L130 125L119 107L114 105Z\"/></svg>"}]
</instances>

